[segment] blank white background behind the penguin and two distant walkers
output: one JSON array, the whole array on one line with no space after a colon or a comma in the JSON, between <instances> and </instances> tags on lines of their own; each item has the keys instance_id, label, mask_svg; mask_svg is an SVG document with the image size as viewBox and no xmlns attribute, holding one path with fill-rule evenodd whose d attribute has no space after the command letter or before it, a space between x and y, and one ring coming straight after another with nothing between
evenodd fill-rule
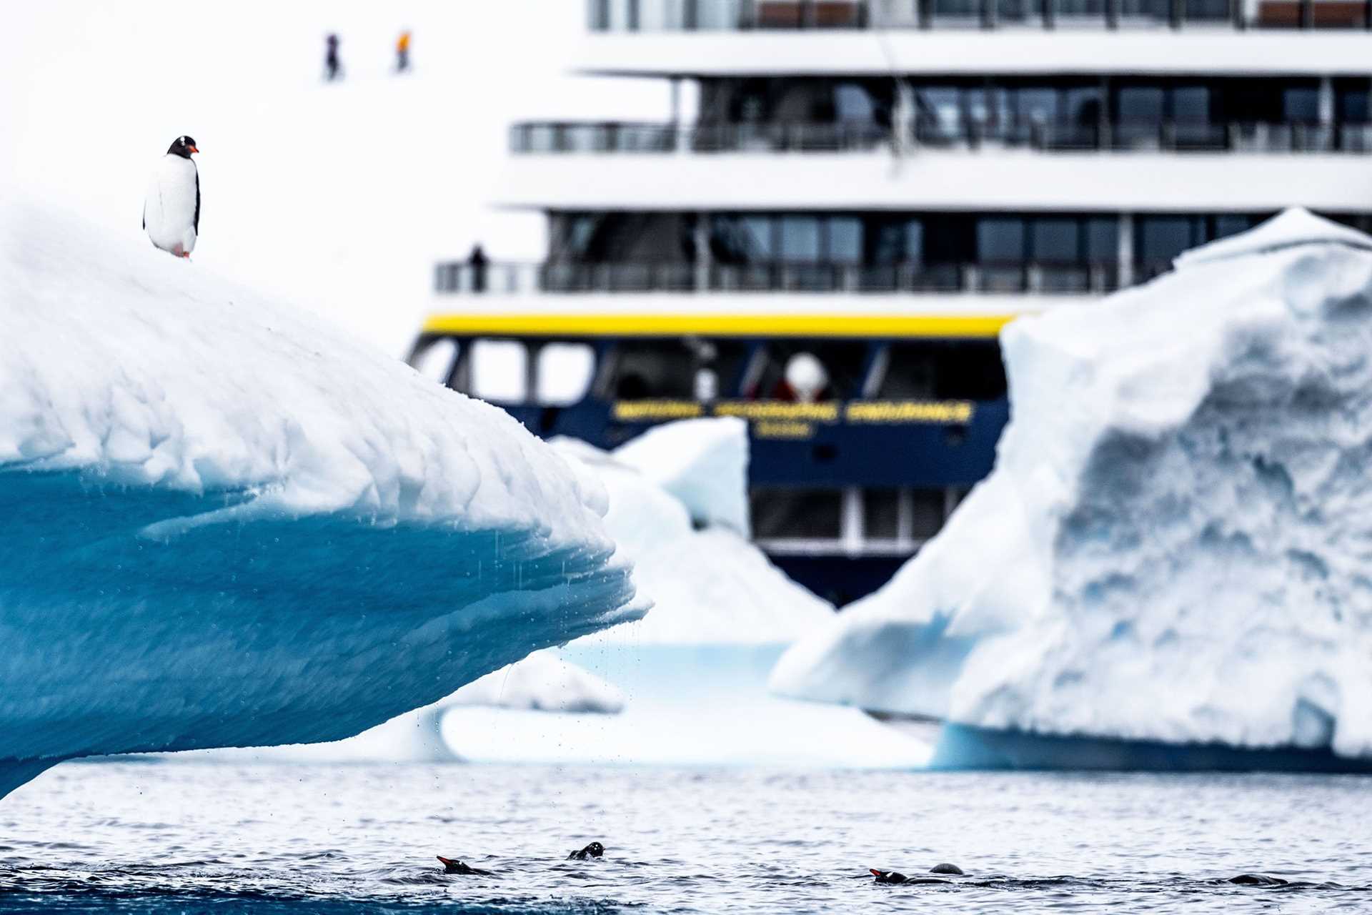
<instances>
[{"instance_id":1,"label":"blank white background behind the penguin and two distant walkers","mask_svg":"<svg viewBox=\"0 0 1372 915\"><path fill-rule=\"evenodd\" d=\"M416 70L395 77L403 27ZM340 85L321 81L329 32ZM665 119L664 84L567 74L583 34L583 0L7 3L0 182L141 232L152 166L188 133L204 196L189 269L398 355L436 259L475 240L497 259L543 251L541 215L486 206L512 121Z\"/></svg>"}]
</instances>

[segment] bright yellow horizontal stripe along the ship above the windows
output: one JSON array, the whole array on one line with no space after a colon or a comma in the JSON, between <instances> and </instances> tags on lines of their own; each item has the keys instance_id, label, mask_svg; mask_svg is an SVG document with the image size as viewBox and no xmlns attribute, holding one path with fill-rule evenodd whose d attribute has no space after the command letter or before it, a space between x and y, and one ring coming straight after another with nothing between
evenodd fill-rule
<instances>
[{"instance_id":1,"label":"bright yellow horizontal stripe along the ship above the windows","mask_svg":"<svg viewBox=\"0 0 1372 915\"><path fill-rule=\"evenodd\" d=\"M460 336L995 337L1015 314L435 314L424 333Z\"/></svg>"}]
</instances>

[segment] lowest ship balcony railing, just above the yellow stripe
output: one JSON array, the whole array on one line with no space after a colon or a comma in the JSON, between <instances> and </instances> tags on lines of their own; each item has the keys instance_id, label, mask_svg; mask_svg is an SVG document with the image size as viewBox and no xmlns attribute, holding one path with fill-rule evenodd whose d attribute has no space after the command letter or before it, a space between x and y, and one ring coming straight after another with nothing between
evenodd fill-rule
<instances>
[{"instance_id":1,"label":"lowest ship balcony railing, just above the yellow stripe","mask_svg":"<svg viewBox=\"0 0 1372 915\"><path fill-rule=\"evenodd\" d=\"M1137 265L1136 276L1166 272L1168 262ZM439 263L440 294L579 292L978 292L1100 295L1121 285L1120 263L1014 261L980 263L768 262L690 263Z\"/></svg>"}]
</instances>

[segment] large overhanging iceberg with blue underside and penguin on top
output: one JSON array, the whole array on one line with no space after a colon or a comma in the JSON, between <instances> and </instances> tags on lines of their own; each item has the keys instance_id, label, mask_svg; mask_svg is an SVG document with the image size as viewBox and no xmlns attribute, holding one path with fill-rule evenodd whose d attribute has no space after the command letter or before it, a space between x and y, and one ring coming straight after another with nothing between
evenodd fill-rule
<instances>
[{"instance_id":1,"label":"large overhanging iceberg with blue underside and penguin on top","mask_svg":"<svg viewBox=\"0 0 1372 915\"><path fill-rule=\"evenodd\" d=\"M5 202L0 796L331 741L642 616L600 482L505 413Z\"/></svg>"}]
</instances>

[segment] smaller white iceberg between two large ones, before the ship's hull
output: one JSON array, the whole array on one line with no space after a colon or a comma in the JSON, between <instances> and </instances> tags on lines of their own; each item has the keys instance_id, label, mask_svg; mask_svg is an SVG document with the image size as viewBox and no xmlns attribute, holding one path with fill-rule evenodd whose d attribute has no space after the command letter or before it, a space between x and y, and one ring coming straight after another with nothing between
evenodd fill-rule
<instances>
[{"instance_id":1,"label":"smaller white iceberg between two large ones, before the ship's hull","mask_svg":"<svg viewBox=\"0 0 1372 915\"><path fill-rule=\"evenodd\" d=\"M825 626L834 609L738 532L748 521L746 425L690 420L645 438L612 453L554 442L605 486L606 528L653 601L653 612L639 621L556 649L560 658L613 683L624 697L622 713L449 706L440 720L447 746L471 761L925 764L927 741L856 709L768 694L767 676L781 653ZM639 461L643 469L635 466ZM704 479L709 483L691 482Z\"/></svg>"}]
</instances>

